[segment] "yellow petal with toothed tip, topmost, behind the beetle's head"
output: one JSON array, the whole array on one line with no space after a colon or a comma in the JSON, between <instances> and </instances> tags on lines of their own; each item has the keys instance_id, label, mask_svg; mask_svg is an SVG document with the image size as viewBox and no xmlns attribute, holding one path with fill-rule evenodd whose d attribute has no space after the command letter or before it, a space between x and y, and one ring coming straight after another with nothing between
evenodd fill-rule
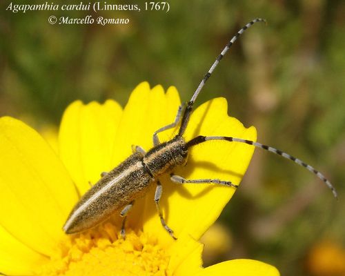
<instances>
[{"instance_id":1,"label":"yellow petal with toothed tip, topmost, behind the beetle's head","mask_svg":"<svg viewBox=\"0 0 345 276\"><path fill-rule=\"evenodd\" d=\"M171 95L173 95L172 92L164 95L164 89L161 86L150 89L147 82L140 83L133 90L124 109L115 139L114 164L119 164L132 154L132 145L141 146L144 150L152 148L153 132L171 124L175 119L177 107L171 108L171 106L175 105L179 99ZM171 98L174 101L168 103ZM175 110L171 112L172 109Z\"/></svg>"}]
</instances>

